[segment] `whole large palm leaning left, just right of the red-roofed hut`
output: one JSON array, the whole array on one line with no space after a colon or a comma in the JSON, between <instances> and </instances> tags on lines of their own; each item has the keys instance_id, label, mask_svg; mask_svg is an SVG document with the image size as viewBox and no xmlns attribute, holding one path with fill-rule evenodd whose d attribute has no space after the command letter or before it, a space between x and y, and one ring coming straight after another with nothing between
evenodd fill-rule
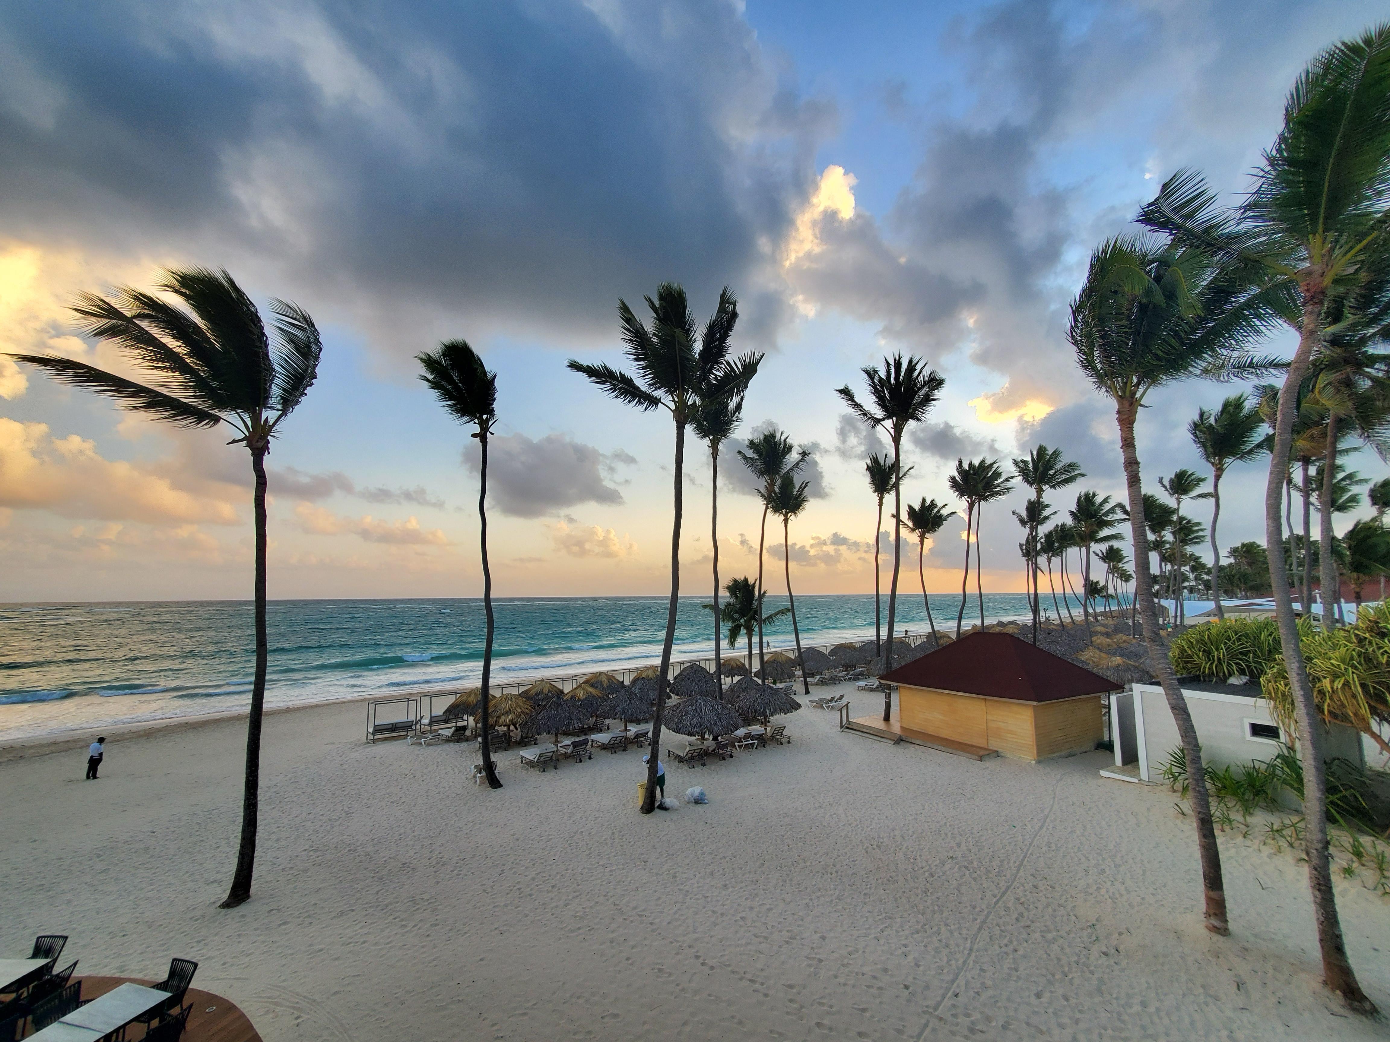
<instances>
[{"instance_id":1,"label":"whole large palm leaning left, just right of the red-roofed hut","mask_svg":"<svg viewBox=\"0 0 1390 1042\"><path fill-rule=\"evenodd\" d=\"M1158 675L1187 757L1190 803L1197 821L1207 928L1227 934L1226 888L1212 822L1202 754L1187 700L1168 659L1150 571L1148 518L1140 481L1134 421L1155 388L1194 377L1225 352L1240 352L1272 325L1243 272L1229 272L1208 253L1137 236L1105 242L1091 254L1086 282L1072 301L1068 340L1097 390L1115 402L1125 460L1134 552L1134 590L1150 668Z\"/></svg>"}]
</instances>

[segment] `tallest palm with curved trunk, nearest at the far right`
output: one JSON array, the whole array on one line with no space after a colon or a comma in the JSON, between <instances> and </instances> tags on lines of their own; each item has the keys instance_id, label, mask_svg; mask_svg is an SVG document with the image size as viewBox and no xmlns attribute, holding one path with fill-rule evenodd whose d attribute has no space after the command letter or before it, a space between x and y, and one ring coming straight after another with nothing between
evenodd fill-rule
<instances>
[{"instance_id":1,"label":"tallest palm with curved trunk, nearest at the far right","mask_svg":"<svg viewBox=\"0 0 1390 1042\"><path fill-rule=\"evenodd\" d=\"M1255 172L1254 189L1234 214L1219 211L1201 179L1184 171L1169 179L1141 220L1195 239L1243 263L1255 263L1295 293L1298 349L1279 396L1269 479L1265 542L1275 617L1289 671L1304 763L1304 847L1312 892L1323 981L1346 1003L1371 1013L1347 959L1327 856L1327 778L1318 707L1302 657L1280 520L1283 474L1293 442L1295 389L1323 343L1323 308L1382 253L1390 229L1390 22L1320 51L1298 76L1284 106L1284 125Z\"/></svg>"}]
</instances>

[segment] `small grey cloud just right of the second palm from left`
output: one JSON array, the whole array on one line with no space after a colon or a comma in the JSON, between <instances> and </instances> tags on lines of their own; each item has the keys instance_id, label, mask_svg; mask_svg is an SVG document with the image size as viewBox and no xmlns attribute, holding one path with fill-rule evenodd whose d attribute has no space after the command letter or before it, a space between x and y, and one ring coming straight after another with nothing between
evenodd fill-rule
<instances>
[{"instance_id":1,"label":"small grey cloud just right of the second palm from left","mask_svg":"<svg viewBox=\"0 0 1390 1042\"><path fill-rule=\"evenodd\" d=\"M474 474L480 458L477 447L464 450ZM489 438L488 499L512 517L542 517L578 503L616 506L623 493L605 481L605 465L603 453L566 435Z\"/></svg>"}]
</instances>

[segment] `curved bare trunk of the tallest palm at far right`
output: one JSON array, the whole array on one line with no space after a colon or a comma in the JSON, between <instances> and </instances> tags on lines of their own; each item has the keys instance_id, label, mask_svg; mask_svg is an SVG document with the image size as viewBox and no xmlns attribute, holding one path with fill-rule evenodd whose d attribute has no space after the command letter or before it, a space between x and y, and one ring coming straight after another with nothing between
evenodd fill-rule
<instances>
[{"instance_id":1,"label":"curved bare trunk of the tallest palm at far right","mask_svg":"<svg viewBox=\"0 0 1390 1042\"><path fill-rule=\"evenodd\" d=\"M1327 767L1322 759L1322 727L1308 667L1304 663L1298 625L1294 621L1293 597L1289 596L1289 571L1284 565L1284 538L1280 532L1279 496L1283 465L1293 445L1297 390L1312 360L1312 350L1322 339L1322 304L1326 290L1314 278L1301 283L1304 295L1302 328L1298 350L1289 363L1283 389L1279 392L1279 413L1275 420L1275 445L1269 457L1269 481L1265 485L1265 543L1269 553L1269 578L1275 595L1275 618L1279 622L1279 642L1283 646L1284 668L1294 699L1298 724L1298 759L1304 768L1304 857L1308 861L1308 889L1312 892L1314 918L1318 924L1318 946L1322 952L1323 982L1341 995L1355 1010L1373 1013L1375 1004L1361 991L1357 975L1347 959L1347 946L1337 917L1337 898L1332 889L1332 866L1327 857ZM1332 472L1332 468L1327 468ZM1308 483L1304 482L1307 504ZM1307 506L1304 507L1307 518ZM1307 521L1305 521L1307 524ZM1305 543L1307 545L1307 543ZM1323 620L1327 607L1323 596Z\"/></svg>"}]
</instances>

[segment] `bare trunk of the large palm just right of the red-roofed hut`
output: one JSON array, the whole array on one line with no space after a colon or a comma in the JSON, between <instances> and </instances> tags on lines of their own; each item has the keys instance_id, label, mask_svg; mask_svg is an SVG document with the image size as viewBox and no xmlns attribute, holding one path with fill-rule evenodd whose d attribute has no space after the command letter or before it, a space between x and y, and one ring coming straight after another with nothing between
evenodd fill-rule
<instances>
[{"instance_id":1,"label":"bare trunk of the large palm just right of the red-roofed hut","mask_svg":"<svg viewBox=\"0 0 1390 1042\"><path fill-rule=\"evenodd\" d=\"M1187 709L1187 699L1177 686L1177 675L1168 657L1168 646L1158 627L1158 604L1154 600L1154 584L1148 570L1148 532L1144 527L1144 489L1138 474L1138 450L1134 445L1134 420L1138 403L1119 400L1115 420L1120 428L1120 453L1125 458L1125 483L1129 492L1130 534L1134 539L1134 588L1138 614L1144 622L1144 642L1148 645L1148 665L1163 686L1163 696L1177 725L1187 757L1188 803L1197 820L1197 850L1202 864L1202 893L1205 899L1207 929L1226 936L1226 886L1222 881L1220 850L1216 846L1216 828L1212 825L1211 797L1207 792L1207 775L1202 770L1202 750L1197 742L1197 728ZM1287 456L1287 450L1284 453Z\"/></svg>"}]
</instances>

